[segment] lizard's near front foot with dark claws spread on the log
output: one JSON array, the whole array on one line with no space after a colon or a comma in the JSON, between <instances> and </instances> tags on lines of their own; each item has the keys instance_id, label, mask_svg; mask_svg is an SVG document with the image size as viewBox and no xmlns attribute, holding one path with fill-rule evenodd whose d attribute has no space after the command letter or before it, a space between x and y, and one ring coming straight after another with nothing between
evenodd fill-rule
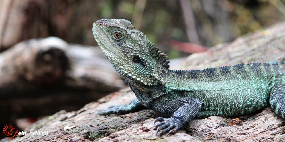
<instances>
[{"instance_id":1,"label":"lizard's near front foot with dark claws spread on the log","mask_svg":"<svg viewBox=\"0 0 285 142\"><path fill-rule=\"evenodd\" d=\"M166 133L168 133L167 135L172 135L182 128L181 122L172 118L158 117L156 118L154 123L156 123L157 121L159 121L159 123L154 125L154 129L157 129L156 135L158 137Z\"/></svg>"}]
</instances>

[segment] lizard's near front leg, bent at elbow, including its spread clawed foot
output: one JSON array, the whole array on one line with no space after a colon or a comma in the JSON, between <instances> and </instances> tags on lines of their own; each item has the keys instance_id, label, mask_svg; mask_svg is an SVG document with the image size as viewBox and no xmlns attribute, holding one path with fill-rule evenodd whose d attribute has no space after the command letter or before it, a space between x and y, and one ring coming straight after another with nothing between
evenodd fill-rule
<instances>
[{"instance_id":1,"label":"lizard's near front leg, bent at elbow, including its spread clawed foot","mask_svg":"<svg viewBox=\"0 0 285 142\"><path fill-rule=\"evenodd\" d=\"M170 118L158 117L154 123L159 121L159 123L154 125L157 129L156 135L164 135L165 133L174 134L180 130L185 124L188 124L196 114L198 114L201 109L202 103L200 100L192 97L181 97L173 101L168 101L167 103L162 103L164 105L154 106L154 109L162 111L160 113L171 113L168 110L173 110L174 112ZM158 114L160 114L158 113ZM162 115L166 116L166 115Z\"/></svg>"}]
</instances>

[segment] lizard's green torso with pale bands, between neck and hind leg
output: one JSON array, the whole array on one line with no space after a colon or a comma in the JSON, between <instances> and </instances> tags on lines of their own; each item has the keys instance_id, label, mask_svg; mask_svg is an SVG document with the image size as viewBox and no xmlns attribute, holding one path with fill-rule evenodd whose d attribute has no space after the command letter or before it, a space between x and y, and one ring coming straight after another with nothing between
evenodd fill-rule
<instances>
[{"instance_id":1,"label":"lizard's green torso with pale bands, between neck and hind leg","mask_svg":"<svg viewBox=\"0 0 285 142\"><path fill-rule=\"evenodd\" d=\"M205 70L172 71L170 94L201 100L196 117L236 116L268 106L274 86L285 86L285 64L251 63Z\"/></svg>"}]
</instances>

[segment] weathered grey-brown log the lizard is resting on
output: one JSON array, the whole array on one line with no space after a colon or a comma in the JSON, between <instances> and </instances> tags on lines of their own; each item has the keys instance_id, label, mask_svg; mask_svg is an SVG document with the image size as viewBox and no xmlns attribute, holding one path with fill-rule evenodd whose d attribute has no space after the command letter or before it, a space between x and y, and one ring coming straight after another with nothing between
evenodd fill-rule
<instances>
[{"instance_id":1,"label":"weathered grey-brown log the lizard is resting on","mask_svg":"<svg viewBox=\"0 0 285 142\"><path fill-rule=\"evenodd\" d=\"M247 35L232 43L217 45L188 57L182 69L203 69L247 62L285 60L285 22ZM48 135L16 137L13 141L285 141L285 123L271 108L245 116L211 116L194 119L185 130L156 137L154 112L141 110L126 115L96 116L111 105L127 104L135 98L129 89L112 93L73 112L64 110L46 117L27 131L48 131ZM232 118L242 125L229 126Z\"/></svg>"}]
</instances>

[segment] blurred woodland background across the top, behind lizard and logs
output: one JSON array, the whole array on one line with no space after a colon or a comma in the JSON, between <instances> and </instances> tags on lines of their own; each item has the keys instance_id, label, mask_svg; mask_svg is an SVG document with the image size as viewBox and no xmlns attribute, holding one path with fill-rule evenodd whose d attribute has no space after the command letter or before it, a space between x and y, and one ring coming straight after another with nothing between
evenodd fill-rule
<instances>
[{"instance_id":1,"label":"blurred woodland background across the top, behind lizard and logs","mask_svg":"<svg viewBox=\"0 0 285 142\"><path fill-rule=\"evenodd\" d=\"M204 47L233 41L285 18L285 0L23 0L14 3L22 7L25 15L23 20L13 21L13 24L24 21L22 25L12 25L23 29L15 31L19 36L17 42L56 36L69 43L96 45L92 23L103 18L123 18L144 32L169 58L204 51ZM3 38L11 40L7 35ZM4 41L0 43L4 45ZM6 44L5 48L10 45L13 46Z\"/></svg>"}]
</instances>

